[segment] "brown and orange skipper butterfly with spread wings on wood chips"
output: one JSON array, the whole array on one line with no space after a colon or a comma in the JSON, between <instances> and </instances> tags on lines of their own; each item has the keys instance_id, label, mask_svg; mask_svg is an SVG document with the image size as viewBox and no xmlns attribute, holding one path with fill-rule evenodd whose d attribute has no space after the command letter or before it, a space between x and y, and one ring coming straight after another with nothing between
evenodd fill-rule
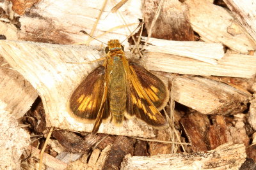
<instances>
[{"instance_id":1,"label":"brown and orange skipper butterfly with spread wings on wood chips","mask_svg":"<svg viewBox=\"0 0 256 170\"><path fill-rule=\"evenodd\" d=\"M68 105L72 117L94 122L92 133L99 131L102 120L122 125L125 118L136 117L152 127L165 127L162 110L169 91L157 76L125 57L117 39L108 41L106 59L72 93Z\"/></svg>"}]
</instances>

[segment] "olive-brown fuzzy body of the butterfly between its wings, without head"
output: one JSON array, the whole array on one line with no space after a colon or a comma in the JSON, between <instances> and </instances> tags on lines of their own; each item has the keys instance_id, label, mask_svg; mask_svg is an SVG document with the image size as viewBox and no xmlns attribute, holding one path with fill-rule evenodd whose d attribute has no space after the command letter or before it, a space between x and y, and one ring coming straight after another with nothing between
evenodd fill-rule
<instances>
[{"instance_id":1,"label":"olive-brown fuzzy body of the butterfly between its wings, without head","mask_svg":"<svg viewBox=\"0 0 256 170\"><path fill-rule=\"evenodd\" d=\"M108 59L108 102L112 122L122 125L126 109L127 83L122 59L119 56Z\"/></svg>"}]
</instances>

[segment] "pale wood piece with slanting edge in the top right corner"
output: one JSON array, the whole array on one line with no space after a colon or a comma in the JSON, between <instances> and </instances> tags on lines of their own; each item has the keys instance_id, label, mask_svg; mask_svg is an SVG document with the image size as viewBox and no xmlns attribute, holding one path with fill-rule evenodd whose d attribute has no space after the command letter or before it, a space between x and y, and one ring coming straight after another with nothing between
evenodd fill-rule
<instances>
[{"instance_id":1,"label":"pale wood piece with slanting edge in the top right corner","mask_svg":"<svg viewBox=\"0 0 256 170\"><path fill-rule=\"evenodd\" d=\"M254 0L224 0L234 17L256 42L256 3Z\"/></svg>"}]
</instances>

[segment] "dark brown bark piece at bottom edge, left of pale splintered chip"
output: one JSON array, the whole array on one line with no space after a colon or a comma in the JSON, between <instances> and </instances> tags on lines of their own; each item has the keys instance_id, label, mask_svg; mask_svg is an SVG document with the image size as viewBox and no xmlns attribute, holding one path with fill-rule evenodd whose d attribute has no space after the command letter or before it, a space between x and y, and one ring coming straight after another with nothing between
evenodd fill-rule
<instances>
[{"instance_id":1,"label":"dark brown bark piece at bottom edge, left of pale splintered chip","mask_svg":"<svg viewBox=\"0 0 256 170\"><path fill-rule=\"evenodd\" d=\"M104 164L102 169L119 169L123 158L127 154L133 153L133 141L124 136L118 136L113 143L111 150L109 151L108 158Z\"/></svg>"}]
</instances>

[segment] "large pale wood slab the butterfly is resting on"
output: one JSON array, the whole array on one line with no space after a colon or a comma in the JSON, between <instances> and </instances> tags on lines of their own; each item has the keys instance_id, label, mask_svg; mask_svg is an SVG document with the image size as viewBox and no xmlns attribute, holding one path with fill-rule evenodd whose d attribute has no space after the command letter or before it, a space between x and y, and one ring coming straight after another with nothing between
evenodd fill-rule
<instances>
[{"instance_id":1,"label":"large pale wood slab the butterfly is resting on","mask_svg":"<svg viewBox=\"0 0 256 170\"><path fill-rule=\"evenodd\" d=\"M77 122L68 114L67 102L93 64L68 64L103 57L88 46L53 45L26 41L0 41L0 55L38 90L45 108L47 127L91 132L93 124ZM152 127L136 120L127 120L121 127L111 123L100 125L100 133L124 136L154 137Z\"/></svg>"}]
</instances>

